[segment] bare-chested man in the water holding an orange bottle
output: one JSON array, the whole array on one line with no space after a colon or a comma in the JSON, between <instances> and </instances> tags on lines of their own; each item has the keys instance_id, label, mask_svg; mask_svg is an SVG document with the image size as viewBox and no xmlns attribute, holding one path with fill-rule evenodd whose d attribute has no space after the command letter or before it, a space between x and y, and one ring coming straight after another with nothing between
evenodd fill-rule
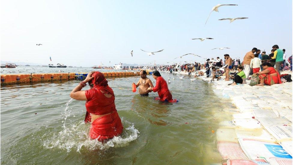
<instances>
[{"instance_id":1,"label":"bare-chested man in the water holding an orange bottle","mask_svg":"<svg viewBox=\"0 0 293 165\"><path fill-rule=\"evenodd\" d=\"M149 96L149 92L146 92L148 87L154 87L152 81L146 77L146 71L145 70L141 70L139 72L140 75L140 79L139 81L136 83L136 87L139 86L138 88L138 93L140 94L140 96ZM134 83L132 83L134 84Z\"/></svg>"}]
</instances>

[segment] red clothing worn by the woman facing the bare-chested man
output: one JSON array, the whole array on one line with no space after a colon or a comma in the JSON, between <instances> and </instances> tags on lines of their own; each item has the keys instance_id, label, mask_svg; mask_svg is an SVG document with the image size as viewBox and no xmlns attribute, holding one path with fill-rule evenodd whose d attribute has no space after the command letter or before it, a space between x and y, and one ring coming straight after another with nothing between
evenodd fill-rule
<instances>
[{"instance_id":1,"label":"red clothing worn by the woman facing the bare-chested man","mask_svg":"<svg viewBox=\"0 0 293 165\"><path fill-rule=\"evenodd\" d=\"M153 87L154 92L158 92L160 101L168 101L173 102L172 94L170 93L168 89L167 82L162 76L159 76L156 81L156 87ZM176 101L176 100L175 100Z\"/></svg>"}]
</instances>

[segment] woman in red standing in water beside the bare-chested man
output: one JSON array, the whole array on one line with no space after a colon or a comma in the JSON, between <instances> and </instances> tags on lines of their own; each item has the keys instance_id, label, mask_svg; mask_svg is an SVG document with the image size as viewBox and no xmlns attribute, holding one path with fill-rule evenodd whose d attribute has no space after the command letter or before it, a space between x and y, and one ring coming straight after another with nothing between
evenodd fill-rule
<instances>
[{"instance_id":1,"label":"woman in red standing in water beside the bare-chested man","mask_svg":"<svg viewBox=\"0 0 293 165\"><path fill-rule=\"evenodd\" d=\"M172 94L168 89L167 82L162 78L159 71L153 72L153 78L156 79L156 87L149 87L147 90L158 92L160 101L177 102L176 99L172 99Z\"/></svg>"}]
</instances>

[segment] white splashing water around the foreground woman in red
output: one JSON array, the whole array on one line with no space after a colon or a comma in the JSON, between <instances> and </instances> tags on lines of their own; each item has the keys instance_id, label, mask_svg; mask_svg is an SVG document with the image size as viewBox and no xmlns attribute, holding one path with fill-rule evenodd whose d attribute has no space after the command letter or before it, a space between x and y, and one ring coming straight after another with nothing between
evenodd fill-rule
<instances>
[{"instance_id":1,"label":"white splashing water around the foreground woman in red","mask_svg":"<svg viewBox=\"0 0 293 165\"><path fill-rule=\"evenodd\" d=\"M111 147L123 147L127 146L129 142L137 139L139 137L139 131L134 127L133 123L130 123L123 118L121 118L122 124L124 126L123 133L119 136L114 136L106 143L99 142L98 140L92 140L89 138L89 125L85 124L83 121L72 121L67 122L66 119L70 116L72 108L69 108L69 104L73 101L70 99L65 104L65 109L62 112L62 130L59 133L48 132L44 134L44 144L45 148L60 148L67 152L77 151L80 152L82 147L87 150L106 150Z\"/></svg>"}]
</instances>

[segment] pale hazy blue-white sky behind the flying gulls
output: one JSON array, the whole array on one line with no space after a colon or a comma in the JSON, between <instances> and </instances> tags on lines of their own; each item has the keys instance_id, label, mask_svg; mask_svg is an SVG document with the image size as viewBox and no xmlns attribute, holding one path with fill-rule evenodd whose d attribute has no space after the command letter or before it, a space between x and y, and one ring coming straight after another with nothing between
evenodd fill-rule
<instances>
[{"instance_id":1,"label":"pale hazy blue-white sky behind the flying gulls","mask_svg":"<svg viewBox=\"0 0 293 165\"><path fill-rule=\"evenodd\" d=\"M204 26L219 3L238 6L220 7ZM227 53L243 60L253 47L270 52L274 44L285 48L287 56L292 54L291 0L2 0L0 6L2 61L93 66L109 61L113 65L203 60L173 60L186 53L204 58L223 58ZM234 17L249 19L218 20ZM191 40L206 37L214 40ZM231 49L211 50L216 47ZM165 50L148 56L140 49Z\"/></svg>"}]
</instances>

